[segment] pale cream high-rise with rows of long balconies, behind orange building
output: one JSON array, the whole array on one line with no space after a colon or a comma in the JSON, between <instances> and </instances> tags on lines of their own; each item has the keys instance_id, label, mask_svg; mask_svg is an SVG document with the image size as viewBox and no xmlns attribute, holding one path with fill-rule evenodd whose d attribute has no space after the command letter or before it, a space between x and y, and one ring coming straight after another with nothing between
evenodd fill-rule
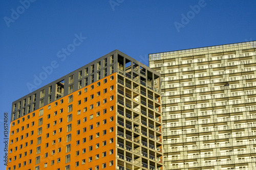
<instances>
[{"instance_id":1,"label":"pale cream high-rise with rows of long balconies, behind orange building","mask_svg":"<svg viewBox=\"0 0 256 170\"><path fill-rule=\"evenodd\" d=\"M150 54L165 169L256 169L256 41Z\"/></svg>"}]
</instances>

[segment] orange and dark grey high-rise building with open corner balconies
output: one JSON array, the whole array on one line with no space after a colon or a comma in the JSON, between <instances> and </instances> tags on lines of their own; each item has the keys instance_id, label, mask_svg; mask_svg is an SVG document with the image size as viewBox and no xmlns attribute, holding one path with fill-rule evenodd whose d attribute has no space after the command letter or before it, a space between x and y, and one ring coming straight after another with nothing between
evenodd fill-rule
<instances>
[{"instance_id":1,"label":"orange and dark grey high-rise building with open corner balconies","mask_svg":"<svg viewBox=\"0 0 256 170\"><path fill-rule=\"evenodd\" d=\"M163 169L160 103L160 74L115 50L13 102L7 169Z\"/></svg>"}]
</instances>

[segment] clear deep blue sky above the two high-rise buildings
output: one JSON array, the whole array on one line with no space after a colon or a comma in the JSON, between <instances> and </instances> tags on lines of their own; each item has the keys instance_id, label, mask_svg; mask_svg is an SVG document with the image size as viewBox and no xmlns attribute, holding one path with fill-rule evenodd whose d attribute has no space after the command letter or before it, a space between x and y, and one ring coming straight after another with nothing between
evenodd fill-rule
<instances>
[{"instance_id":1,"label":"clear deep blue sky above the two high-rise buildings","mask_svg":"<svg viewBox=\"0 0 256 170\"><path fill-rule=\"evenodd\" d=\"M149 53L256 40L256 1L31 1L0 2L0 169L4 113L52 61L32 91L115 49L147 65Z\"/></svg>"}]
</instances>

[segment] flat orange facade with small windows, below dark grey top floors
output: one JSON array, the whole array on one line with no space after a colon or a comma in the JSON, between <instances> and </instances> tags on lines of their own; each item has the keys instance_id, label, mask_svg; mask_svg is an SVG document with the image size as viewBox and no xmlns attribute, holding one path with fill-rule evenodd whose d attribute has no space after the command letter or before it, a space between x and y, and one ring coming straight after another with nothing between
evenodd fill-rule
<instances>
[{"instance_id":1,"label":"flat orange facade with small windows, below dark grey top floors","mask_svg":"<svg viewBox=\"0 0 256 170\"><path fill-rule=\"evenodd\" d=\"M7 169L115 169L115 115L116 73L12 121Z\"/></svg>"}]
</instances>

